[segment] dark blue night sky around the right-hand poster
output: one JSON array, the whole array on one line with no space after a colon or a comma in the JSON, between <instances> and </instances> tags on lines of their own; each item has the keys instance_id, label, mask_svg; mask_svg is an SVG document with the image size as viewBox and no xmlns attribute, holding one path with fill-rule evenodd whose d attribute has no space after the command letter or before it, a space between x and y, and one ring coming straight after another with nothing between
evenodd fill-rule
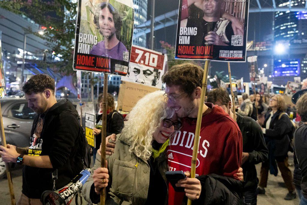
<instances>
[{"instance_id":1,"label":"dark blue night sky around the right-hand poster","mask_svg":"<svg viewBox=\"0 0 307 205\"><path fill-rule=\"evenodd\" d=\"M169 11L178 9L179 0L155 0L155 15L159 16L165 14ZM148 0L148 12L147 19L150 19L151 14L151 0ZM259 21L260 20L260 21ZM247 40L251 41L264 41L265 37L269 34L272 34L272 25L273 25L273 13L272 12L263 12L263 13L250 13L248 19L248 32ZM166 41L169 44L175 46L176 43L176 31L177 25L169 26L155 31L155 48L160 49L159 41ZM254 39L255 37L255 39ZM147 41L149 41L149 34L147 34ZM262 66L265 62L258 62L259 67ZM211 61L212 69L211 73L214 74L216 71L224 71L228 73L227 62L214 62ZM231 74L232 76L237 77L238 79L244 77L244 82L249 81L248 65L246 63L230 63Z\"/></svg>"}]
</instances>

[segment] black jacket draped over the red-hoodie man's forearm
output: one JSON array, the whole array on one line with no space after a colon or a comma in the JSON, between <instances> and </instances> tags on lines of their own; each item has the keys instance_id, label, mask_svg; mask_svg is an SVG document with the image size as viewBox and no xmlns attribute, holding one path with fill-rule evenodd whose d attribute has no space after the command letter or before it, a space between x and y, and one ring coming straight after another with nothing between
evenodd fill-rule
<instances>
[{"instance_id":1,"label":"black jacket draped over the red-hoodie man's forearm","mask_svg":"<svg viewBox=\"0 0 307 205\"><path fill-rule=\"evenodd\" d=\"M196 177L201 183L200 198L193 204L242 204L241 193L243 183L227 176L216 174Z\"/></svg>"}]
</instances>

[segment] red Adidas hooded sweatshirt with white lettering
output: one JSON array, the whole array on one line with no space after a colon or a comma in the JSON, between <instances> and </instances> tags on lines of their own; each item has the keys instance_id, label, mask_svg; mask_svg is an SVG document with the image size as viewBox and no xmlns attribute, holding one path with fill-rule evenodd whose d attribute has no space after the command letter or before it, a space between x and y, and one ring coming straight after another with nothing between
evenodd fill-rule
<instances>
[{"instance_id":1,"label":"red Adidas hooded sweatshirt with white lettering","mask_svg":"<svg viewBox=\"0 0 307 205\"><path fill-rule=\"evenodd\" d=\"M234 178L242 159L242 134L235 121L219 106L202 117L196 176L218 174ZM197 119L183 118L183 126L166 148L169 171L190 171ZM202 187L204 188L204 187ZM182 203L185 192L169 184L169 205Z\"/></svg>"}]
</instances>

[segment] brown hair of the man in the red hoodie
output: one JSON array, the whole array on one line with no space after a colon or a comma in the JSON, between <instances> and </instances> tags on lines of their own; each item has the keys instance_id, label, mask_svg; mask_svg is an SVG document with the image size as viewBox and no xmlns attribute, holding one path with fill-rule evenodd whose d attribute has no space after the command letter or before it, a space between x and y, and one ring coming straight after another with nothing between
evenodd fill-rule
<instances>
[{"instance_id":1,"label":"brown hair of the man in the red hoodie","mask_svg":"<svg viewBox=\"0 0 307 205\"><path fill-rule=\"evenodd\" d=\"M162 76L166 85L180 85L188 96L191 96L196 87L202 87L204 70L192 63L174 65Z\"/></svg>"}]
</instances>

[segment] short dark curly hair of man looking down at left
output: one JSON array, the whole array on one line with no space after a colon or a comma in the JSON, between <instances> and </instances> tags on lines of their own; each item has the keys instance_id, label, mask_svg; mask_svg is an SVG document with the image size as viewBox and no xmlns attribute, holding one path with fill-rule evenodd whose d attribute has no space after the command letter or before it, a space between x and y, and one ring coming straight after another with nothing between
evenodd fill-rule
<instances>
[{"instance_id":1,"label":"short dark curly hair of man looking down at left","mask_svg":"<svg viewBox=\"0 0 307 205\"><path fill-rule=\"evenodd\" d=\"M42 93L45 89L52 90L54 95L55 83L54 79L47 74L33 75L26 83L22 86L22 91L28 95L32 93Z\"/></svg>"}]
</instances>

